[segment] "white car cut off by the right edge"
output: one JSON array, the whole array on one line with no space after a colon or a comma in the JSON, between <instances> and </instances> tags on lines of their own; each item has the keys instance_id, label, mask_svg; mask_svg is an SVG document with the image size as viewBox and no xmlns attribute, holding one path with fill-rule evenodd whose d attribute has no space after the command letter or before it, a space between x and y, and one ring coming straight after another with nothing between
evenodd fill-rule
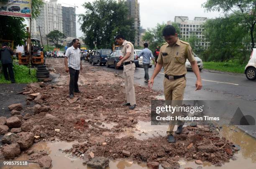
<instances>
[{"instance_id":1,"label":"white car cut off by the right edge","mask_svg":"<svg viewBox=\"0 0 256 169\"><path fill-rule=\"evenodd\" d=\"M246 74L246 78L248 80L255 80L256 79L256 48L253 49L251 52L250 60L245 67L244 73Z\"/></svg>"}]
</instances>

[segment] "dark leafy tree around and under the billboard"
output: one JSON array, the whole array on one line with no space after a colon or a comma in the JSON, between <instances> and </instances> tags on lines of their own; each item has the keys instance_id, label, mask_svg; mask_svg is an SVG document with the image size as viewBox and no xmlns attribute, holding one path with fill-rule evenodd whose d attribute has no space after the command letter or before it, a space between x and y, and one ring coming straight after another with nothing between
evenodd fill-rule
<instances>
[{"instance_id":1,"label":"dark leafy tree around and under the billboard","mask_svg":"<svg viewBox=\"0 0 256 169\"><path fill-rule=\"evenodd\" d=\"M0 0L0 3L6 4L8 0ZM32 0L32 17L36 18L44 5L42 0ZM23 45L23 40L28 37L24 18L0 15L0 39L13 40L14 47Z\"/></svg>"}]
</instances>

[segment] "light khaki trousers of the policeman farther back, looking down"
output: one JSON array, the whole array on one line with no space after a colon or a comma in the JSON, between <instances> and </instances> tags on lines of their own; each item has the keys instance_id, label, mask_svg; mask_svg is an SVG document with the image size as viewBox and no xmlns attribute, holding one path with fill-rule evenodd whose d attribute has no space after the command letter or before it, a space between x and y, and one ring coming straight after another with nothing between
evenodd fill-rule
<instances>
[{"instance_id":1,"label":"light khaki trousers of the policeman farther back, looking down","mask_svg":"<svg viewBox=\"0 0 256 169\"><path fill-rule=\"evenodd\" d=\"M123 76L125 80L125 98L127 103L131 105L136 104L135 89L134 89L134 71L135 64L128 64L123 66Z\"/></svg>"}]
</instances>

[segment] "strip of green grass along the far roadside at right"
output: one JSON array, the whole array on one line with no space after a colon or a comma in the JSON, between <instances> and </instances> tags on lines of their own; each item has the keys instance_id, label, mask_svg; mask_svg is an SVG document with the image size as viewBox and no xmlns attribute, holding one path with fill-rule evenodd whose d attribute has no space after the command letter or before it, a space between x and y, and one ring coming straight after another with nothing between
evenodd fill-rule
<instances>
[{"instance_id":1,"label":"strip of green grass along the far roadside at right","mask_svg":"<svg viewBox=\"0 0 256 169\"><path fill-rule=\"evenodd\" d=\"M245 66L246 64L239 64L233 62L204 62L205 69L233 73L244 73Z\"/></svg>"}]
</instances>

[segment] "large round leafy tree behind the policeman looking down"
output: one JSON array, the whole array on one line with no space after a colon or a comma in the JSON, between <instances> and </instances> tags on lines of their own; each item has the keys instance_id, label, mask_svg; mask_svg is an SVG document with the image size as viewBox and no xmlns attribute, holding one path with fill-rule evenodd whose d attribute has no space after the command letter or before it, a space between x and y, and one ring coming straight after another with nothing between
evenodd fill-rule
<instances>
[{"instance_id":1,"label":"large round leafy tree behind the policeman looking down","mask_svg":"<svg viewBox=\"0 0 256 169\"><path fill-rule=\"evenodd\" d=\"M84 33L83 41L91 49L95 48L95 45L97 48L112 48L117 34L124 35L126 40L134 41L133 19L128 18L125 3L117 3L115 0L95 0L82 6L85 14L79 15L80 29Z\"/></svg>"}]
</instances>

